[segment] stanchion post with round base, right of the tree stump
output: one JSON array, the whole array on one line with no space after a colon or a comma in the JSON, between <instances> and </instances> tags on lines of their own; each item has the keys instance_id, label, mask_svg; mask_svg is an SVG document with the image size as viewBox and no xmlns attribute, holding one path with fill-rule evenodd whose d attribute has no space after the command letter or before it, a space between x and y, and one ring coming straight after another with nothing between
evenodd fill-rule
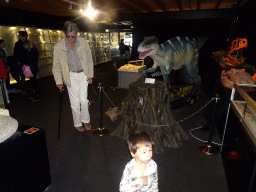
<instances>
[{"instance_id":1,"label":"stanchion post with round base, right of the tree stump","mask_svg":"<svg viewBox=\"0 0 256 192\"><path fill-rule=\"evenodd\" d=\"M220 149L217 145L212 144L212 136L214 131L214 120L215 120L215 110L218 102L218 95L216 95L213 114L212 114L212 122L211 122L211 129L209 131L208 143L207 145L199 145L198 148L200 151L206 153L207 155L216 155L220 152Z\"/></svg>"}]
</instances>

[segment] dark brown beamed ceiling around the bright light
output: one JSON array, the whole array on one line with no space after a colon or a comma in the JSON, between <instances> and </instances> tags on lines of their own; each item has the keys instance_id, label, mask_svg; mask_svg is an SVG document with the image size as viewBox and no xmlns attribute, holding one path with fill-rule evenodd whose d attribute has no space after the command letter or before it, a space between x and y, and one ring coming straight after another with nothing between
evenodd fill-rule
<instances>
[{"instance_id":1,"label":"dark brown beamed ceiling around the bright light","mask_svg":"<svg viewBox=\"0 0 256 192\"><path fill-rule=\"evenodd\" d=\"M177 13L239 9L250 0L91 0L99 11L96 23L129 25L133 20L152 17L170 17ZM1 0L0 6L16 8L54 16L84 17L80 9L86 9L88 0ZM92 22L85 18L86 22Z\"/></svg>"}]
</instances>

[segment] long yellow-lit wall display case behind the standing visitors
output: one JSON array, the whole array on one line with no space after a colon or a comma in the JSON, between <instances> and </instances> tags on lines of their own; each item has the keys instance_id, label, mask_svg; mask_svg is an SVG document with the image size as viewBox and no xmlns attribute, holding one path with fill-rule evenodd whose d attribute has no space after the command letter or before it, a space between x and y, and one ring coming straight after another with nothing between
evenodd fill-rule
<instances>
[{"instance_id":1,"label":"long yellow-lit wall display case behind the standing visitors","mask_svg":"<svg viewBox=\"0 0 256 192\"><path fill-rule=\"evenodd\" d=\"M6 43L4 50L7 57L13 55L14 45L19 40L19 31L27 31L28 39L34 43L39 51L38 65L40 70L38 77L52 75L53 48L56 42L65 37L64 32L62 30L35 27L0 26L0 39L3 39ZM95 65L111 61L109 33L80 31L77 35L87 39Z\"/></svg>"}]
</instances>

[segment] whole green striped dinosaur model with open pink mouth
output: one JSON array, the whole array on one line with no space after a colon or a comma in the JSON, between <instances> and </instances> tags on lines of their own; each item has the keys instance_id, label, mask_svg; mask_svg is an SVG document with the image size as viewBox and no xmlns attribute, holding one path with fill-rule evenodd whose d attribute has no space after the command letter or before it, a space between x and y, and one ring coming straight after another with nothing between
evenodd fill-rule
<instances>
[{"instance_id":1,"label":"whole green striped dinosaur model with open pink mouth","mask_svg":"<svg viewBox=\"0 0 256 192\"><path fill-rule=\"evenodd\" d=\"M170 88L169 74L173 70L186 67L188 74L188 84L201 84L201 77L198 73L199 49L207 41L208 37L189 38L185 36L174 37L163 44L158 43L155 36L144 39L139 46L139 58L144 59L151 57L154 65L141 72L141 75L154 72L160 67L159 72L153 73L152 76L163 75L168 88Z\"/></svg>"}]
</instances>

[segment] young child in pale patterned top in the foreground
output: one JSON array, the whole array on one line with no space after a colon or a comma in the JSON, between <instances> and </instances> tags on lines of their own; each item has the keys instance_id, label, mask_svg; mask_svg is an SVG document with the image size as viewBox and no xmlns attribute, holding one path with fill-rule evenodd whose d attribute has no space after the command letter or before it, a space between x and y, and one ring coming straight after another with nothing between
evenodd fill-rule
<instances>
[{"instance_id":1,"label":"young child in pale patterned top in the foreground","mask_svg":"<svg viewBox=\"0 0 256 192\"><path fill-rule=\"evenodd\" d=\"M152 160L153 141L146 132L132 133L127 139L133 159L125 166L120 192L158 191L157 164Z\"/></svg>"}]
</instances>

